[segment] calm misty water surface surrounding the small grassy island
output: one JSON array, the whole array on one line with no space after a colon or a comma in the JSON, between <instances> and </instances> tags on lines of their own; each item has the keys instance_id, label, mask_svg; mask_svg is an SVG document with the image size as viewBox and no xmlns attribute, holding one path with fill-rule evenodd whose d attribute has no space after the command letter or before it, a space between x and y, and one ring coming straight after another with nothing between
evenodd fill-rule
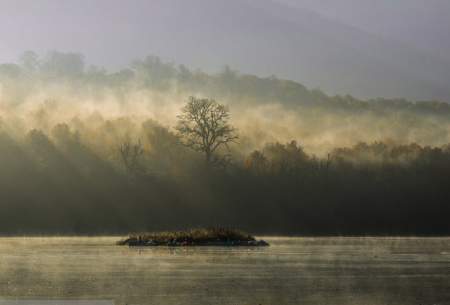
<instances>
[{"instance_id":1,"label":"calm misty water surface surrounding the small grassy island","mask_svg":"<svg viewBox=\"0 0 450 305\"><path fill-rule=\"evenodd\" d=\"M0 238L0 297L116 304L450 304L450 238L267 238L268 248Z\"/></svg>"}]
</instances>

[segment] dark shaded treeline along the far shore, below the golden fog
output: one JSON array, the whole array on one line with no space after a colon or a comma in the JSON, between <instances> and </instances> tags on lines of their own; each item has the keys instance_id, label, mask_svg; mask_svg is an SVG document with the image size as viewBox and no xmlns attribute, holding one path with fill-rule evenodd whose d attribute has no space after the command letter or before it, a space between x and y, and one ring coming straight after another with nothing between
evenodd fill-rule
<instances>
[{"instance_id":1,"label":"dark shaded treeline along the far shore, below the golden fog","mask_svg":"<svg viewBox=\"0 0 450 305\"><path fill-rule=\"evenodd\" d=\"M102 137L114 126L105 122ZM97 143L64 123L20 138L2 130L0 232L450 233L449 146L359 143L317 157L295 141L274 142L231 148L231 162L210 166L154 121L139 134Z\"/></svg>"}]
</instances>

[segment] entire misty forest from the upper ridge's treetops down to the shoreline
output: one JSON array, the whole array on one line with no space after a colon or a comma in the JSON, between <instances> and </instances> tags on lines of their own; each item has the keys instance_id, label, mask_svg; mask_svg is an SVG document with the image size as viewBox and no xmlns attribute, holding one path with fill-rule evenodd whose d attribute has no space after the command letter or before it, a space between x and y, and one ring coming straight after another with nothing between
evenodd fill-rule
<instances>
[{"instance_id":1,"label":"entire misty forest from the upper ridge's treetops down to the shoreline","mask_svg":"<svg viewBox=\"0 0 450 305\"><path fill-rule=\"evenodd\" d=\"M0 232L450 233L450 105L77 53L0 65Z\"/></svg>"}]
</instances>

